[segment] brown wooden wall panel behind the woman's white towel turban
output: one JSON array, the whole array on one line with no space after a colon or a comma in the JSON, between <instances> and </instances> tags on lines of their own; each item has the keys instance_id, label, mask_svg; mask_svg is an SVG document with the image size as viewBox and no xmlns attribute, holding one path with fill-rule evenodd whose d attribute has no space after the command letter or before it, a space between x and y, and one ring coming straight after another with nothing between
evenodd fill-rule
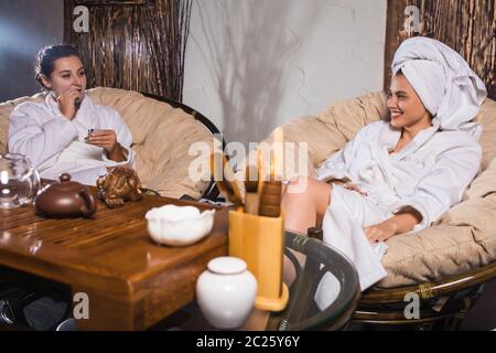
<instances>
[{"instance_id":1,"label":"brown wooden wall panel behind the woman's white towel turban","mask_svg":"<svg viewBox=\"0 0 496 353\"><path fill-rule=\"evenodd\" d=\"M416 6L420 32L406 31L408 6ZM391 61L399 44L407 38L425 35L459 52L479 75L488 96L496 99L496 0L388 0L385 88L391 81Z\"/></svg>"}]
</instances>

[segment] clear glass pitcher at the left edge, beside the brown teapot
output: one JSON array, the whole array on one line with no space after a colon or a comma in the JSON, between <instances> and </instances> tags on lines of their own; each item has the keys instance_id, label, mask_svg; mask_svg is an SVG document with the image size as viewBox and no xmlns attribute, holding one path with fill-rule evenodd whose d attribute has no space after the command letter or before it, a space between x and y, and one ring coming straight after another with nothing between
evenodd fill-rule
<instances>
[{"instance_id":1,"label":"clear glass pitcher at the left edge, beside the brown teapot","mask_svg":"<svg viewBox=\"0 0 496 353\"><path fill-rule=\"evenodd\" d=\"M40 174L28 157L0 154L0 208L31 204L40 185Z\"/></svg>"}]
</instances>

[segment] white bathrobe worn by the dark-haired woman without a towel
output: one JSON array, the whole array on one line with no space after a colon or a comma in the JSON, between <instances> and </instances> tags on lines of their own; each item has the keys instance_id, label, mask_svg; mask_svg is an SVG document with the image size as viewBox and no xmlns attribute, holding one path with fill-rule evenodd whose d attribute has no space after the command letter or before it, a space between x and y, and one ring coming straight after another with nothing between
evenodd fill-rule
<instances>
[{"instance_id":1,"label":"white bathrobe worn by the dark-haired woman without a towel","mask_svg":"<svg viewBox=\"0 0 496 353\"><path fill-rule=\"evenodd\" d=\"M88 129L111 129L123 147L126 161L109 160L103 148L85 142ZM69 173L72 180L95 185L106 167L133 167L131 131L110 107L94 104L88 96L73 120L64 117L51 94L43 103L23 103L10 117L8 149L29 157L42 178L58 179Z\"/></svg>"}]
</instances>

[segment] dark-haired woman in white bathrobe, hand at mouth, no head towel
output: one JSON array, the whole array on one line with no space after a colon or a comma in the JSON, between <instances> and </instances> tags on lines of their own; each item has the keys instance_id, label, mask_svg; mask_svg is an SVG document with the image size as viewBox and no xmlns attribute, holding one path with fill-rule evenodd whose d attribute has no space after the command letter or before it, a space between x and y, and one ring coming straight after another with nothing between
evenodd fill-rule
<instances>
[{"instance_id":1,"label":"dark-haired woman in white bathrobe, hand at mouth, no head towel","mask_svg":"<svg viewBox=\"0 0 496 353\"><path fill-rule=\"evenodd\" d=\"M45 100L20 104L12 111L9 152L28 156L42 178L67 172L88 185L114 167L133 167L131 132L116 110L86 96L86 74L74 46L41 50L35 78Z\"/></svg>"}]
</instances>

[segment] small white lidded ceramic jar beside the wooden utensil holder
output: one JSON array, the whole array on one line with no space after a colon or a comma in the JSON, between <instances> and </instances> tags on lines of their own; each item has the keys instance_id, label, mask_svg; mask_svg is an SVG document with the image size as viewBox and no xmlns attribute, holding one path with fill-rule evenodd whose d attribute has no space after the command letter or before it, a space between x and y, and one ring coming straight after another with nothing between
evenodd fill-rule
<instances>
[{"instance_id":1,"label":"small white lidded ceramic jar beside the wooden utensil holder","mask_svg":"<svg viewBox=\"0 0 496 353\"><path fill-rule=\"evenodd\" d=\"M196 299L207 321L218 329L239 328L257 298L257 280L237 257L212 259L196 281Z\"/></svg>"}]
</instances>

